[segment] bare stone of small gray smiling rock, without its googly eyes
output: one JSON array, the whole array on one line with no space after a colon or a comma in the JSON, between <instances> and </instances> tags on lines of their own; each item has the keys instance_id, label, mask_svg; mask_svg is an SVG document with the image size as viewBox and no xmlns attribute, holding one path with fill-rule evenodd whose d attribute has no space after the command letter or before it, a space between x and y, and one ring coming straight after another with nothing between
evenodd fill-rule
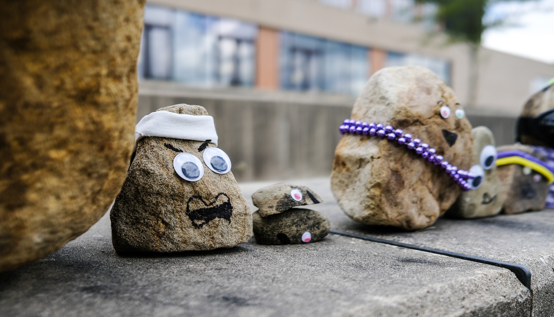
<instances>
[{"instance_id":1,"label":"bare stone of small gray smiling rock, without its googly eyes","mask_svg":"<svg viewBox=\"0 0 554 317\"><path fill-rule=\"evenodd\" d=\"M494 136L488 127L474 127L472 129L474 141L473 165L481 165L481 152L487 145L494 146ZM483 166L481 166L483 167ZM452 207L447 210L447 215L458 218L476 218L498 215L506 199L506 192L499 176L497 165L485 170L481 186L474 190L461 192Z\"/></svg>"}]
</instances>

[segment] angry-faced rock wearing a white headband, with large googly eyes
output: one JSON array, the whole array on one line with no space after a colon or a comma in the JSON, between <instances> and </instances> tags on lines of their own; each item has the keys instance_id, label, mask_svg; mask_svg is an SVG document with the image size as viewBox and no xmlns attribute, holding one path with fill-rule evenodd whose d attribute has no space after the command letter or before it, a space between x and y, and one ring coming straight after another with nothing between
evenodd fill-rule
<instances>
[{"instance_id":1,"label":"angry-faced rock wearing a white headband, with large googly eyes","mask_svg":"<svg viewBox=\"0 0 554 317\"><path fill-rule=\"evenodd\" d=\"M252 234L247 201L213 118L174 105L136 125L136 154L110 212L118 253L231 248Z\"/></svg>"}]
</instances>

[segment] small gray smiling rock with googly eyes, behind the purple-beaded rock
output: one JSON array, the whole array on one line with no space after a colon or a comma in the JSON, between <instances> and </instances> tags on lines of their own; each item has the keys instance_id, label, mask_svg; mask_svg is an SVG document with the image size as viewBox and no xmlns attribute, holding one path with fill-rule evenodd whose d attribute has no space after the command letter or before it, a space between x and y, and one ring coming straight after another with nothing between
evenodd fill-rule
<instances>
[{"instance_id":1,"label":"small gray smiling rock with googly eyes, behind the purple-beaded rock","mask_svg":"<svg viewBox=\"0 0 554 317\"><path fill-rule=\"evenodd\" d=\"M472 190L462 192L447 211L458 218L489 217L500 213L505 199L502 183L497 175L497 149L494 135L488 127L472 129L474 141L474 178L469 182Z\"/></svg>"}]
</instances>

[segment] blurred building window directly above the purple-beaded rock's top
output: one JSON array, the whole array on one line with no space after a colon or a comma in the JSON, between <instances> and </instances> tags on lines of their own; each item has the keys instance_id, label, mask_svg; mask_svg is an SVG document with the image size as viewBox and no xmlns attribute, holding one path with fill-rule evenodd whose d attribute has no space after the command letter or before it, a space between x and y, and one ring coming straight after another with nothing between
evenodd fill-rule
<instances>
[{"instance_id":1,"label":"blurred building window directly above the purple-beaded rock's top","mask_svg":"<svg viewBox=\"0 0 554 317\"><path fill-rule=\"evenodd\" d=\"M440 58L390 52L387 54L385 66L425 66L436 73L446 84L450 84L450 63Z\"/></svg>"}]
</instances>

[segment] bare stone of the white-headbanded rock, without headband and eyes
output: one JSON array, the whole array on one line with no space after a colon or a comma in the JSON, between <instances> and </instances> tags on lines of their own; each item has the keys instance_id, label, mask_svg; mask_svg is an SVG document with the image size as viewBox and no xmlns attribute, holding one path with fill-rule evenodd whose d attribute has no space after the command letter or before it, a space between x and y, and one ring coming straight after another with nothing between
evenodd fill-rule
<instances>
[{"instance_id":1,"label":"bare stone of the white-headbanded rock, without headband and eyes","mask_svg":"<svg viewBox=\"0 0 554 317\"><path fill-rule=\"evenodd\" d=\"M177 114L208 115L200 106L159 109ZM252 216L232 172L216 174L204 167L198 181L175 172L181 152L204 164L213 143L145 137L139 141L123 189L110 212L118 253L179 252L231 248L252 236Z\"/></svg>"}]
</instances>

